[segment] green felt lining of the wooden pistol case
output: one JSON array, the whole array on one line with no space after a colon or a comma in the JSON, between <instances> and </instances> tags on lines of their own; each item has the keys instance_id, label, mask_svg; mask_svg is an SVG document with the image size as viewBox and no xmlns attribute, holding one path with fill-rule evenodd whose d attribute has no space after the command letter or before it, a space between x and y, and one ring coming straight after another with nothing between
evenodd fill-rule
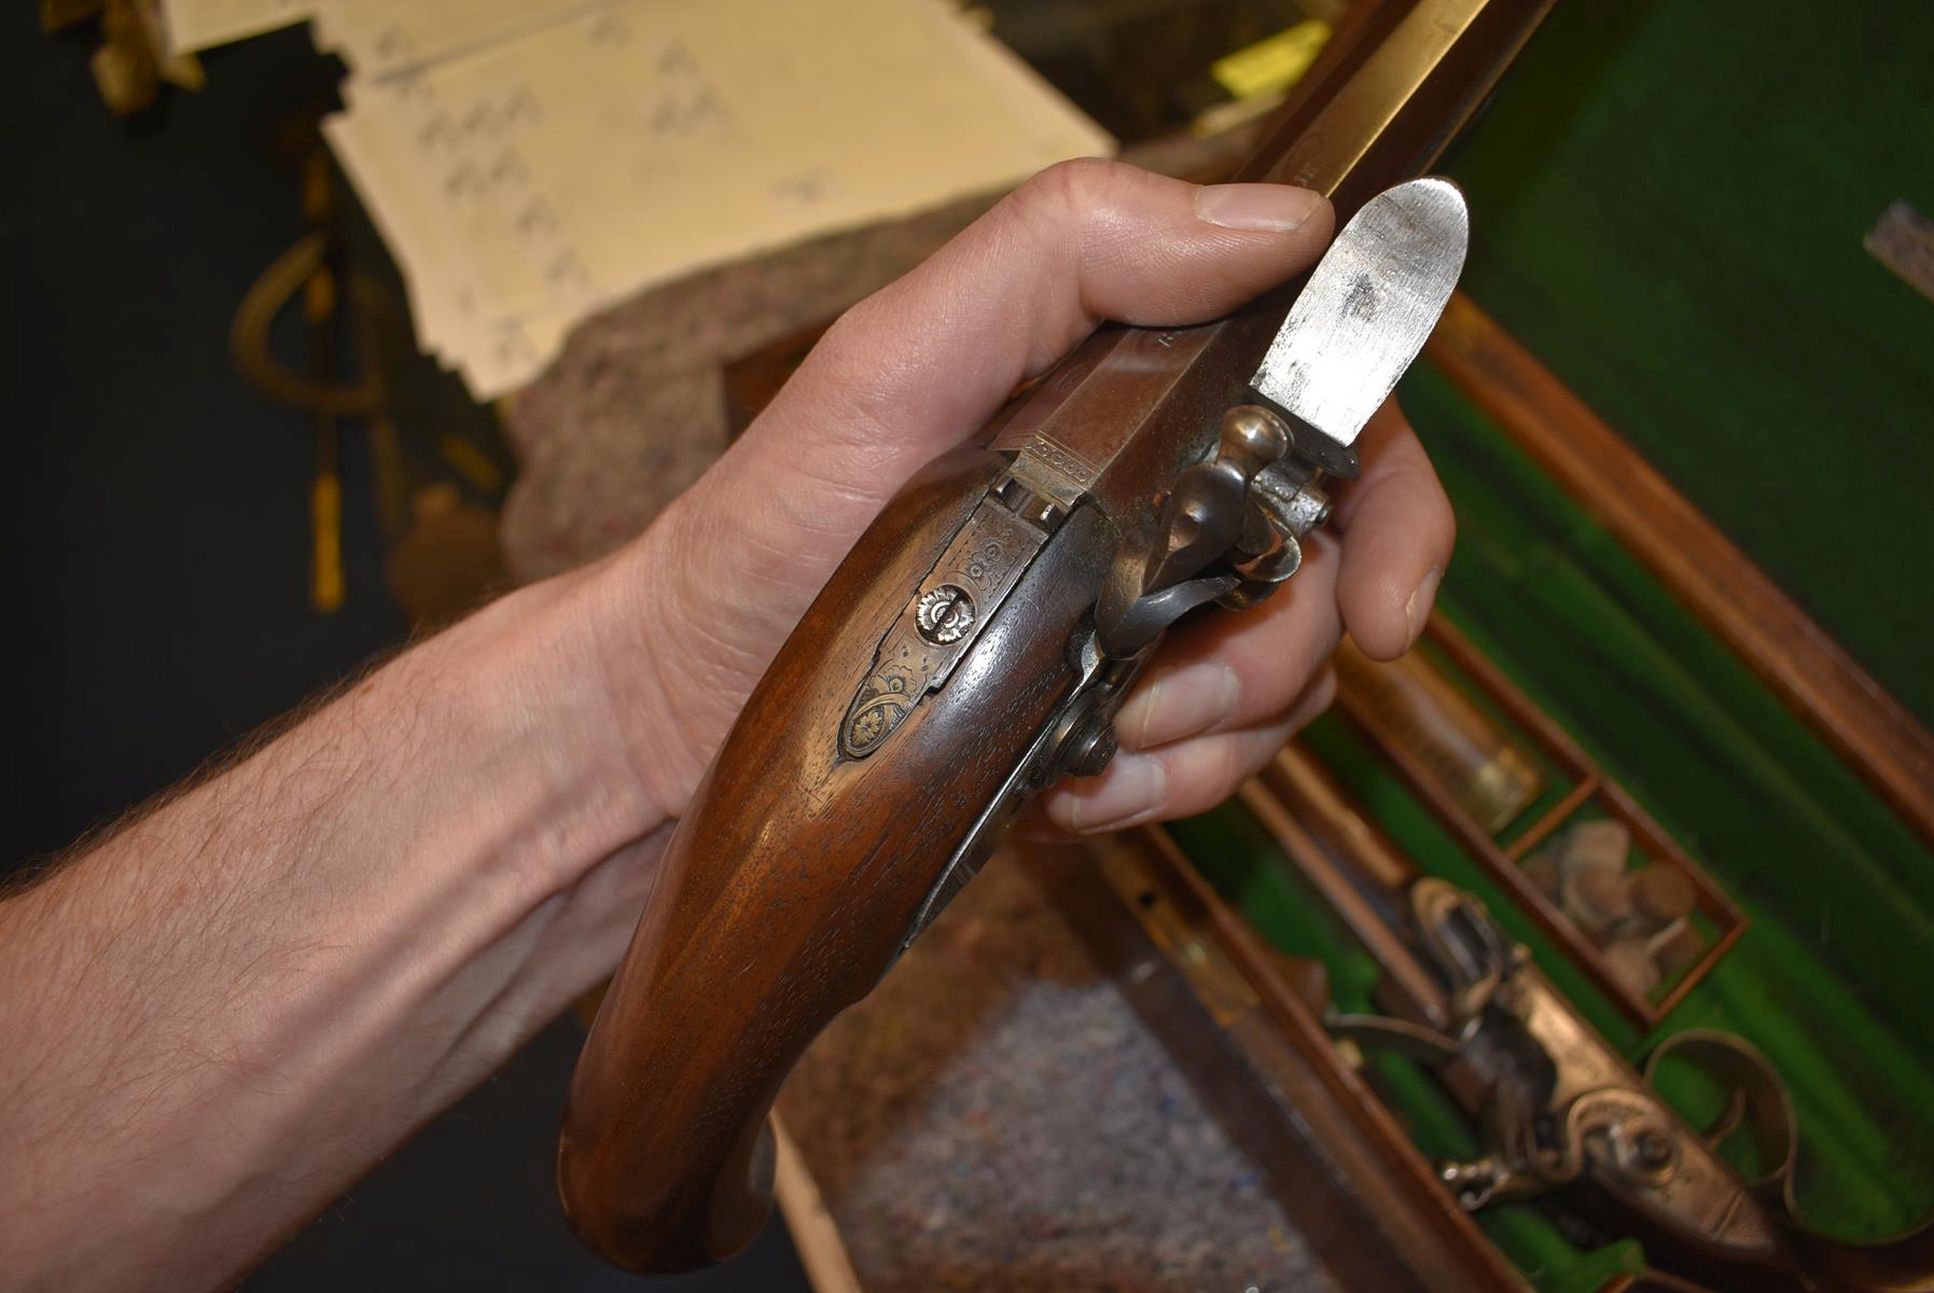
<instances>
[{"instance_id":1,"label":"green felt lining of the wooden pistol case","mask_svg":"<svg viewBox=\"0 0 1934 1293\"><path fill-rule=\"evenodd\" d=\"M1934 719L1934 303L1861 247L1934 211L1934 4L1567 0L1445 166L1466 290ZM1748 912L1665 1020L1752 1040L1801 1115L1801 1206L1878 1239L1934 1210L1934 852L1443 375L1404 406L1458 508L1441 605ZM1294 586L1290 593L1296 595ZM1483 897L1638 1061L1642 1038L1340 719L1309 744L1425 870ZM1549 798L1549 796L1547 796ZM1363 1007L1367 955L1240 806L1184 847ZM1375 1061L1431 1154L1472 1148L1420 1069ZM1665 1092L1700 1113L1694 1082ZM1485 1225L1539 1287L1594 1287L1538 1208Z\"/></svg>"}]
</instances>

